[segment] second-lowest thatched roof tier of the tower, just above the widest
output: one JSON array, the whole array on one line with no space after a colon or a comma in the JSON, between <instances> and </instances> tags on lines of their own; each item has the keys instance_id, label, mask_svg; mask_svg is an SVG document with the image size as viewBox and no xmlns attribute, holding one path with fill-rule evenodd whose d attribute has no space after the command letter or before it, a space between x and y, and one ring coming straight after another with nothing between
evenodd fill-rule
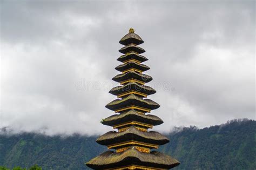
<instances>
[{"instance_id":1,"label":"second-lowest thatched roof tier of the tower, just above the widest","mask_svg":"<svg viewBox=\"0 0 256 170\"><path fill-rule=\"evenodd\" d=\"M150 132L143 132L138 130L137 128L131 126L126 131L123 132L116 132L110 131L103 135L101 135L96 141L100 145L114 145L123 143L126 141L138 141L144 142L146 144L152 145L164 145L169 142L163 134L150 131Z\"/></svg>"}]
</instances>

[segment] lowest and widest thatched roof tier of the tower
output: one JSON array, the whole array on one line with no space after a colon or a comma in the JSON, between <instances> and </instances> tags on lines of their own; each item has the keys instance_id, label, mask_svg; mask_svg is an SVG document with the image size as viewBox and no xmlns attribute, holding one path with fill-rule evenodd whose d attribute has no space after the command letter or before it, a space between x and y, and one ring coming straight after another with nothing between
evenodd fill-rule
<instances>
[{"instance_id":1,"label":"lowest and widest thatched roof tier of the tower","mask_svg":"<svg viewBox=\"0 0 256 170\"><path fill-rule=\"evenodd\" d=\"M122 168L131 164L156 169L170 169L178 166L180 162L157 151L143 153L135 148L130 148L119 153L106 151L86 163L87 166L93 169Z\"/></svg>"}]
</instances>

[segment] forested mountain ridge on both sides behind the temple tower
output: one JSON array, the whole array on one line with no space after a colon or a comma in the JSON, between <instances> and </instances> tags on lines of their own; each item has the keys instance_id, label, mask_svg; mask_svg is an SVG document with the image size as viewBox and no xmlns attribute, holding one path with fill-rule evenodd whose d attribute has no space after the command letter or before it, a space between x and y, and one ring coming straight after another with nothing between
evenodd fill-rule
<instances>
[{"instance_id":1,"label":"forested mountain ridge on both sides behind the temple tower","mask_svg":"<svg viewBox=\"0 0 256 170\"><path fill-rule=\"evenodd\" d=\"M174 169L256 169L255 120L231 120L202 129L177 127L165 135L170 142L159 150L181 162ZM0 165L88 169L84 162L106 151L96 139L79 134L9 134L5 129L0 134Z\"/></svg>"}]
</instances>

